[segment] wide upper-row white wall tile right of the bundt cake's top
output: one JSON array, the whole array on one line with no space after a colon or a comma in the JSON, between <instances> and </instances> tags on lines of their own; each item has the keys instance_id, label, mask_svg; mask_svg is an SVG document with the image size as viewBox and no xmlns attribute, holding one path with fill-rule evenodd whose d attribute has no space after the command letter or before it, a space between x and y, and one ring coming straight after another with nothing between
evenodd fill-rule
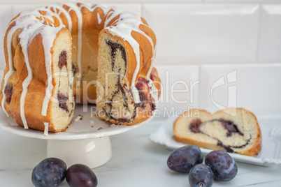
<instances>
[{"instance_id":1,"label":"wide upper-row white wall tile right of the bundt cake's top","mask_svg":"<svg viewBox=\"0 0 281 187\"><path fill-rule=\"evenodd\" d=\"M157 64L254 63L258 5L144 5L157 36Z\"/></svg>"}]
</instances>

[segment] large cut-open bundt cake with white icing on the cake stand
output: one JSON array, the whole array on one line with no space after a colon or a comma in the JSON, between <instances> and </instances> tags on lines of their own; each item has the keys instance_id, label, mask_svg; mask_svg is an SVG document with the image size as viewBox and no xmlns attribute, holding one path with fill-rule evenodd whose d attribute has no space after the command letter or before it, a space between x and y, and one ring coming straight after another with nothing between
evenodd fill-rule
<instances>
[{"instance_id":1,"label":"large cut-open bundt cake with white icing on the cake stand","mask_svg":"<svg viewBox=\"0 0 281 187\"><path fill-rule=\"evenodd\" d=\"M20 13L4 38L1 107L24 128L50 132L69 126L75 103L96 103L115 124L144 121L161 89L155 45L142 17L114 7L55 3Z\"/></svg>"}]
</instances>

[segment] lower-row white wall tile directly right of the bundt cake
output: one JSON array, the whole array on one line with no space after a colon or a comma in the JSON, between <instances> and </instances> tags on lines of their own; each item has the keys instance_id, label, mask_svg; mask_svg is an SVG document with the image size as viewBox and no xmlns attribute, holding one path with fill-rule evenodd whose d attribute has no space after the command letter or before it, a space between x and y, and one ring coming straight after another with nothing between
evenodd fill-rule
<instances>
[{"instance_id":1,"label":"lower-row white wall tile directly right of the bundt cake","mask_svg":"<svg viewBox=\"0 0 281 187\"><path fill-rule=\"evenodd\" d=\"M160 117L198 107L199 66L156 66L161 78Z\"/></svg>"}]
</instances>

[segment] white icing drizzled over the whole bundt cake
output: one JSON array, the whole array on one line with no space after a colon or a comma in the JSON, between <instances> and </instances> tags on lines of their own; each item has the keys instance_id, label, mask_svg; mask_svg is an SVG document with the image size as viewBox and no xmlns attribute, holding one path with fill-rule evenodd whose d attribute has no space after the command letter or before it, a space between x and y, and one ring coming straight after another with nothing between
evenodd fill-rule
<instances>
[{"instance_id":1,"label":"white icing drizzled over the whole bundt cake","mask_svg":"<svg viewBox=\"0 0 281 187\"><path fill-rule=\"evenodd\" d=\"M78 19L78 73L82 73L82 68L81 68L81 58L82 58L82 12L81 8L85 7L90 11L94 11L96 8L101 8L103 10L103 14L106 15L106 20L104 22L104 29L108 30L113 36L119 36L123 40L126 40L131 47L134 50L134 53L136 55L136 69L133 74L133 78L131 81L131 90L133 93L133 98L135 100L135 103L140 102L140 98L138 95L138 90L135 87L135 81L136 77L138 75L138 72L140 70L140 46L138 42L131 36L132 31L136 31L138 33L141 33L143 36L147 38L147 40L150 41L150 44L152 46L152 52L153 52L153 57L151 59L151 65L150 68L147 72L146 79L150 81L151 87L150 87L150 93L152 91L152 98L154 101L158 99L158 95L155 92L155 87L152 84L152 81L150 80L149 76L153 67L153 61L154 61L154 56L155 56L155 50L154 50L154 43L152 41L152 38L150 36L147 36L145 32L143 32L140 29L140 25L143 24L141 21L141 17L137 17L131 13L122 13L120 9L117 9L112 6L108 7L103 7L99 6L96 4L92 4L90 8L89 6L86 6L85 4L80 4L78 6L78 3L66 3L65 6L69 7L69 10L66 10L64 7L63 3L55 3L52 4L46 8L38 8L36 10L29 10L25 11L23 13L20 13L20 16L17 17L13 22L15 22L15 25L10 29L7 35L7 50L8 50L8 72L4 76L4 84L3 84L3 89L2 93L4 93L4 89L6 87L6 84L8 83L8 79L10 75L12 75L15 70L13 69L13 55L12 55L12 38L13 38L13 33L17 31L17 29L22 29L21 33L19 34L20 38L20 45L22 46L22 52L24 54L24 61L27 66L27 71L28 75L24 79L24 82L22 83L22 95L20 96L20 117L22 118L22 123L24 124L24 128L28 128L27 126L27 120L25 118L24 114L24 103L25 103L25 98L27 95L29 83L33 79L32 75L32 70L31 66L29 63L29 54L28 54L28 48L29 48L29 42L37 36L39 33L42 35L42 42L43 42L43 47L44 47L44 54L45 54L45 69L46 73L48 75L48 86L45 89L45 97L43 98L43 106L41 110L41 114L43 116L47 115L47 110L48 110L48 105L50 103L50 96L52 95L52 54L51 54L51 49L52 45L54 43L54 40L57 36L57 33L65 27L62 19L60 17L61 14L64 14L66 17L66 20L68 22L68 29L69 32L71 33L72 31L72 20L71 16L69 13L71 11L75 12L75 15ZM45 15L41 14L41 11L45 12ZM119 18L113 23L115 24L114 27L108 26L108 23L113 20L114 17L119 15ZM98 23L101 24L101 15L97 13L97 20ZM42 20L38 20L38 17L40 17ZM53 23L55 23L54 17L57 18L60 22L59 27L55 27ZM43 20L50 20L52 23L51 24L46 24ZM156 46L156 45L155 45ZM82 78L82 75L80 76L80 79ZM153 94L154 93L154 94ZM157 92L158 93L158 92ZM3 94L3 99L1 100L1 107L3 111L8 115L8 112L6 111L5 108L5 100L6 100L6 95ZM48 123L46 123L48 124ZM46 125L45 128L46 128Z\"/></svg>"}]
</instances>

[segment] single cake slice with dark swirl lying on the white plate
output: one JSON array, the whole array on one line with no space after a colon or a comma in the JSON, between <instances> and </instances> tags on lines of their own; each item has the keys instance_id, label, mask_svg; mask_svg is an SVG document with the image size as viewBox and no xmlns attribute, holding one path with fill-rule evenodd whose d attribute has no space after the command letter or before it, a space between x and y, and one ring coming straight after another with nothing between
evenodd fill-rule
<instances>
[{"instance_id":1,"label":"single cake slice with dark swirl lying on the white plate","mask_svg":"<svg viewBox=\"0 0 281 187\"><path fill-rule=\"evenodd\" d=\"M206 110L187 110L173 124L178 142L207 149L221 149L246 156L261 150L261 129L252 112L243 108L226 108L214 114Z\"/></svg>"}]
</instances>

